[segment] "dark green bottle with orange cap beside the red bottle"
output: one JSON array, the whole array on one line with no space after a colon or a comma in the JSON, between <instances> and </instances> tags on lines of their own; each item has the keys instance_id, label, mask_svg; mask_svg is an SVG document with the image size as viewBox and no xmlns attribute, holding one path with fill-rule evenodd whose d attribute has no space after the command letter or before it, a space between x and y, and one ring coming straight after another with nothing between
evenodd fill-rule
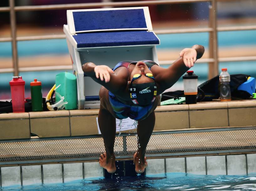
<instances>
[{"instance_id":1,"label":"dark green bottle with orange cap beside the red bottle","mask_svg":"<svg viewBox=\"0 0 256 191\"><path fill-rule=\"evenodd\" d=\"M42 96L42 83L34 79L30 82L32 111L43 110L43 96Z\"/></svg>"}]
</instances>

